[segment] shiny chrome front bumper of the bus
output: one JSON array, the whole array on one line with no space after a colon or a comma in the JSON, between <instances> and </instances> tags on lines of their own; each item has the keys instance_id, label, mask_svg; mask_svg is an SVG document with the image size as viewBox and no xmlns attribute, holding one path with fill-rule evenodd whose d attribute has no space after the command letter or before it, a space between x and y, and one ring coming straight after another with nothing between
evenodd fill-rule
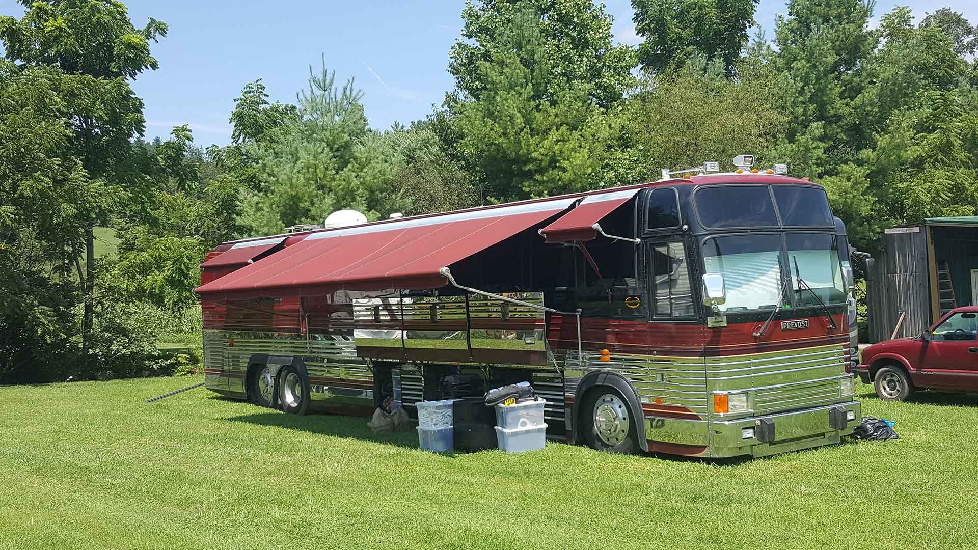
<instances>
[{"instance_id":1,"label":"shiny chrome front bumper of the bus","mask_svg":"<svg viewBox=\"0 0 978 550\"><path fill-rule=\"evenodd\" d=\"M833 409L844 409L842 418L846 418L845 415L848 414L854 420L846 421L845 428L833 428L830 420L830 412ZM849 401L800 411L711 421L710 456L768 456L838 443L843 435L852 434L853 429L862 420L861 413L860 402ZM762 440L760 437L762 427L766 427L770 434L771 425L773 425L773 437L770 440ZM755 431L754 436L743 438L743 431L748 428Z\"/></svg>"}]
</instances>

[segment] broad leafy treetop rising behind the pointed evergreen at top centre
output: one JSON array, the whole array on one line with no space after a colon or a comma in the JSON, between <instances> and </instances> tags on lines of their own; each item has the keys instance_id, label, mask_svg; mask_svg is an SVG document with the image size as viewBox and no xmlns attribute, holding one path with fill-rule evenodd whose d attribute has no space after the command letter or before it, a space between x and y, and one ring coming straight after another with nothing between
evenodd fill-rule
<instances>
[{"instance_id":1,"label":"broad leafy treetop rising behind the pointed evergreen at top centre","mask_svg":"<svg viewBox=\"0 0 978 550\"><path fill-rule=\"evenodd\" d=\"M535 87L540 97L554 99L567 88L590 87L588 95L600 106L619 99L631 85L630 71L635 53L629 46L612 45L611 16L592 0L467 0L462 11L462 37L449 53L448 71L455 76L462 99L478 100L492 83L480 69L481 63L513 50L511 29L529 31L527 13L536 14L533 32L540 49L536 60L521 58L525 67L546 60L550 66L546 82Z\"/></svg>"}]
</instances>

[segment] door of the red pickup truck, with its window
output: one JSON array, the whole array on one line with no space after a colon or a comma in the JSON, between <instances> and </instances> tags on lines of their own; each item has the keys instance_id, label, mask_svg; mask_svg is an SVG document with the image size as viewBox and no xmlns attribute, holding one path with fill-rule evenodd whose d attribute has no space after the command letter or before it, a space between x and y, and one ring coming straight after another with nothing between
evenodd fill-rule
<instances>
[{"instance_id":1,"label":"door of the red pickup truck, with its window","mask_svg":"<svg viewBox=\"0 0 978 550\"><path fill-rule=\"evenodd\" d=\"M934 327L920 366L921 386L978 390L978 314L957 311Z\"/></svg>"}]
</instances>

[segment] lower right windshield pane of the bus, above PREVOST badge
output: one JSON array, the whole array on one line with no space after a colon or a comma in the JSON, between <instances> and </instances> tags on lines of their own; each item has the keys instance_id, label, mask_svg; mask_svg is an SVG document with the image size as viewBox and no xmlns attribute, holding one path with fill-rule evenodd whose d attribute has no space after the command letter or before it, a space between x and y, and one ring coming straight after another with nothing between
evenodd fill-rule
<instances>
[{"instance_id":1,"label":"lower right windshield pane of the bus, above PREVOST badge","mask_svg":"<svg viewBox=\"0 0 978 550\"><path fill-rule=\"evenodd\" d=\"M812 296L813 293L824 303L846 303L835 236L789 233L785 235L784 241L787 245L788 265L791 267L791 288L794 291L795 305L819 305L819 299ZM799 275L812 289L811 293L798 284Z\"/></svg>"}]
</instances>

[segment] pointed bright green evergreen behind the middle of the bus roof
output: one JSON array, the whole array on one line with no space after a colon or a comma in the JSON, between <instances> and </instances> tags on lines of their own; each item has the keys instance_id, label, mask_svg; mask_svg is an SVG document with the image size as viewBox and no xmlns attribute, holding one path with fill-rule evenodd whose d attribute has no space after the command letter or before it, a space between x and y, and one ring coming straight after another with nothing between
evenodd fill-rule
<instances>
[{"instance_id":1,"label":"pointed bright green evergreen behind the middle of the bus roof","mask_svg":"<svg viewBox=\"0 0 978 550\"><path fill-rule=\"evenodd\" d=\"M458 148L485 178L490 200L511 201L583 191L595 181L608 125L591 88L555 82L540 16L511 18L500 47L478 61L478 98L454 107Z\"/></svg>"}]
</instances>

